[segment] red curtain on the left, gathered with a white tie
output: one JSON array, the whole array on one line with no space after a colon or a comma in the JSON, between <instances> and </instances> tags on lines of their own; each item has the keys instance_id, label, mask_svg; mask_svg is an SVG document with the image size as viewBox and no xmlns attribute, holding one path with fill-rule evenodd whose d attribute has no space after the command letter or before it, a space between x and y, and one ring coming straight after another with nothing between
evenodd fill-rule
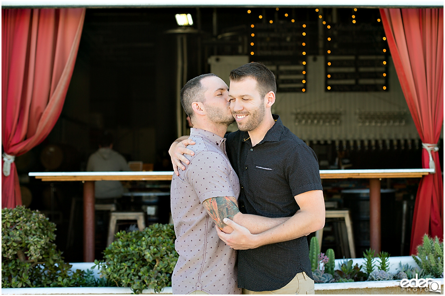
<instances>
[{"instance_id":1,"label":"red curtain on the left, gathered with a white tie","mask_svg":"<svg viewBox=\"0 0 445 296\"><path fill-rule=\"evenodd\" d=\"M62 111L85 8L1 9L1 207L22 204L13 159L40 144Z\"/></svg>"}]
</instances>

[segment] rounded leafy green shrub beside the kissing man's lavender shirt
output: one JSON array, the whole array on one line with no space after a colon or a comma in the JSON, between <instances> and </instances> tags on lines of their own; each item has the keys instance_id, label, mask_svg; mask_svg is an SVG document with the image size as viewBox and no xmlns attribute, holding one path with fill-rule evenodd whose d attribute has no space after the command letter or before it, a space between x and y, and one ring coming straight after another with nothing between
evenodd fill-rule
<instances>
[{"instance_id":1,"label":"rounded leafy green shrub beside the kissing man's lavender shirt","mask_svg":"<svg viewBox=\"0 0 445 296\"><path fill-rule=\"evenodd\" d=\"M104 260L95 260L108 283L131 287L135 294L144 289L160 292L172 286L172 273L178 260L175 231L170 224L152 224L142 231L120 231L104 251Z\"/></svg>"}]
</instances>

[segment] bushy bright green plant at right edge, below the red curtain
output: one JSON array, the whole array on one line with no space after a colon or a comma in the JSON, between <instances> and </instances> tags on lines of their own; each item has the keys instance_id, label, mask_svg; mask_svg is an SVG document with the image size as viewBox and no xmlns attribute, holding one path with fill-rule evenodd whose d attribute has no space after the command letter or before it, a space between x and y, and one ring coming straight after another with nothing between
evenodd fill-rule
<instances>
[{"instance_id":1,"label":"bushy bright green plant at right edge, below the red curtain","mask_svg":"<svg viewBox=\"0 0 445 296\"><path fill-rule=\"evenodd\" d=\"M417 256L412 258L426 275L444 277L444 241L437 236L433 239L425 234L423 243L417 246Z\"/></svg>"}]
</instances>

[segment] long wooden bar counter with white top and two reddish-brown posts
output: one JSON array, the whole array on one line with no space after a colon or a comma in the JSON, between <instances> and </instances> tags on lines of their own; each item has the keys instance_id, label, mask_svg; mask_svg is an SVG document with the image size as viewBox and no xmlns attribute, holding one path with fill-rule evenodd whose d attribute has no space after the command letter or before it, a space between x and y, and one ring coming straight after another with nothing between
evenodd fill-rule
<instances>
[{"instance_id":1,"label":"long wooden bar counter with white top and two reddish-brown posts","mask_svg":"<svg viewBox=\"0 0 445 296\"><path fill-rule=\"evenodd\" d=\"M421 178L432 169L320 170L321 179L369 179L370 247L381 248L380 180L382 178ZM30 177L46 182L84 183L84 261L94 261L94 181L171 181L173 172L42 172Z\"/></svg>"}]
</instances>

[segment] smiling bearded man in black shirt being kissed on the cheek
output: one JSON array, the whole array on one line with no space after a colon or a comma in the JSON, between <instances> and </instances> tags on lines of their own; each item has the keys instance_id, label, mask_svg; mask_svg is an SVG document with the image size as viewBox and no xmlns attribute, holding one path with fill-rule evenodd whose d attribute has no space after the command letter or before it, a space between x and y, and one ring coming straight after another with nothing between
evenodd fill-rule
<instances>
[{"instance_id":1,"label":"smiling bearded man in black shirt being kissed on the cheek","mask_svg":"<svg viewBox=\"0 0 445 296\"><path fill-rule=\"evenodd\" d=\"M290 218L260 234L224 219L234 231L218 234L240 250L238 287L243 294L313 294L306 235L324 226L318 162L312 149L272 115L275 92L275 78L262 64L249 63L230 73L230 109L239 130L226 134L226 150L240 179L239 210ZM185 168L173 162L175 170L175 164Z\"/></svg>"}]
</instances>

